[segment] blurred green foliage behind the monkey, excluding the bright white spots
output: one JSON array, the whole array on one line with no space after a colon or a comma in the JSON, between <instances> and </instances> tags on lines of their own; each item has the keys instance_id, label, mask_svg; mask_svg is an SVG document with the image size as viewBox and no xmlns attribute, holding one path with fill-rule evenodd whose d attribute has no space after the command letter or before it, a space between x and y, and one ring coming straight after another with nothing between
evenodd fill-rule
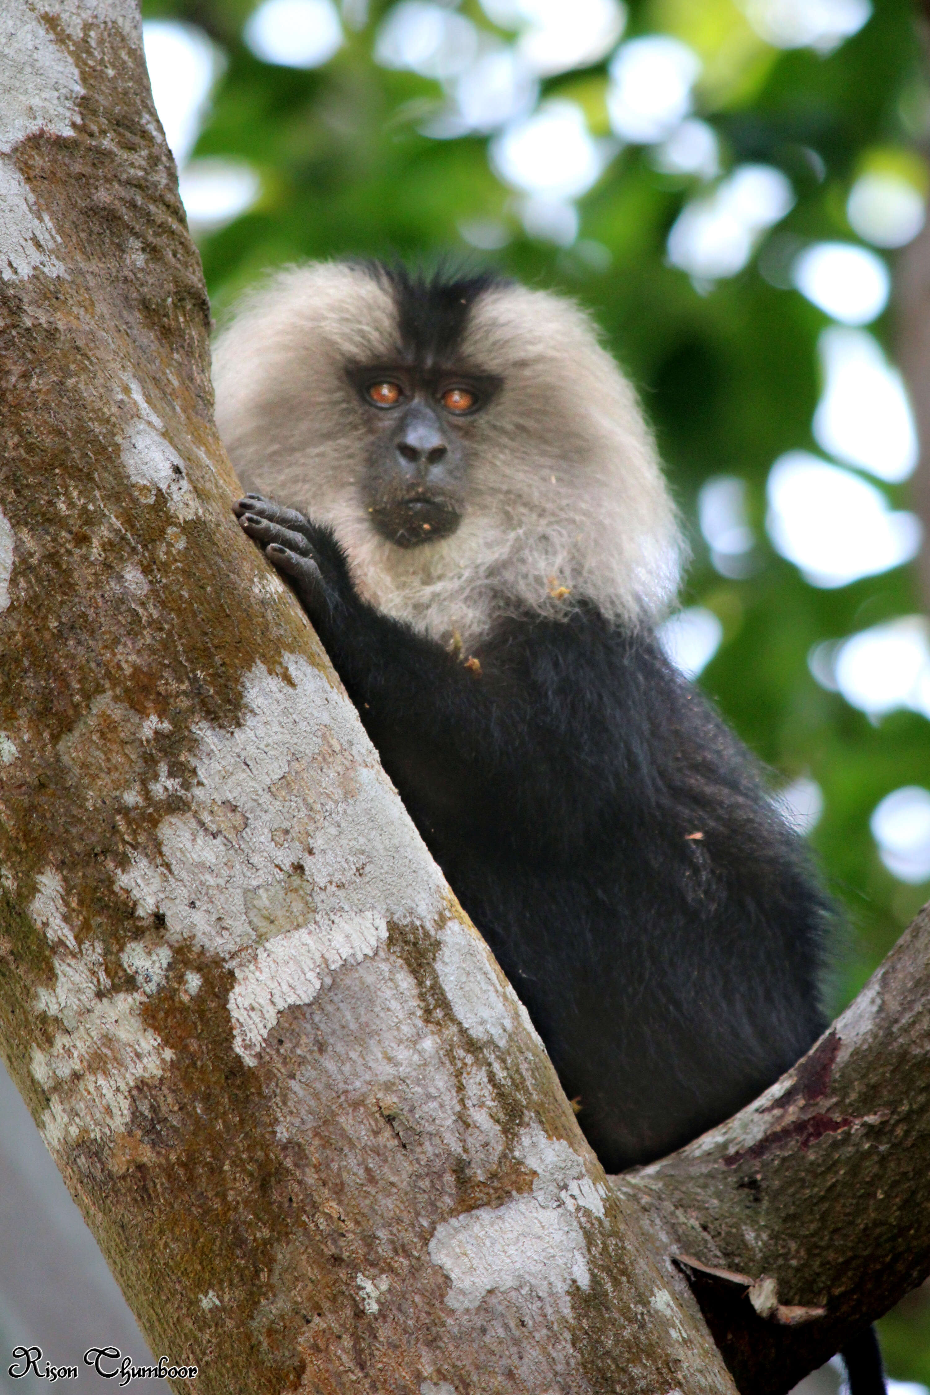
<instances>
[{"instance_id":1,"label":"blurred green foliage behind the monkey, excluding the bright white spots","mask_svg":"<svg viewBox=\"0 0 930 1395\"><path fill-rule=\"evenodd\" d=\"M817 451L816 345L828 321L784 289L784 268L803 240L856 240L845 216L855 176L883 158L913 165L926 137L927 85L909 0L877 0L864 28L827 57L767 46L731 0L630 7L625 38L675 33L701 54L697 107L721 140L724 167L771 163L798 195L763 248L768 279L754 259L714 287L696 287L665 259L668 229L696 181L657 173L647 148L618 153L581 199L573 247L530 240L513 193L491 172L485 138L422 134L439 110L439 85L372 61L383 4L361 29L347 28L343 49L314 71L258 61L240 36L250 8L248 0L145 6L149 17L199 25L226 50L195 153L244 158L262 177L258 205L201 240L215 312L282 262L344 254L429 262L449 252L558 287L591 308L643 393L689 523L694 555L685 603L707 605L724 624L701 682L775 778L810 774L823 787L825 812L811 841L848 910L832 986L832 1006L841 1007L930 894L927 884L905 886L884 869L869 831L885 794L930 785L930 721L901 711L871 723L814 682L807 654L820 640L910 614L922 601L912 568L835 590L807 585L764 538L764 485L781 452ZM492 28L475 0L462 10ZM544 95L570 96L593 133L607 134L605 85L600 66L548 80ZM460 233L470 222L499 223L510 240L478 254ZM891 312L871 328L891 350ZM759 569L743 580L712 569L694 523L697 490L718 473L747 481L763 538ZM888 494L906 506L906 487ZM912 1296L883 1332L892 1374L930 1382L930 1299Z\"/></svg>"}]
</instances>

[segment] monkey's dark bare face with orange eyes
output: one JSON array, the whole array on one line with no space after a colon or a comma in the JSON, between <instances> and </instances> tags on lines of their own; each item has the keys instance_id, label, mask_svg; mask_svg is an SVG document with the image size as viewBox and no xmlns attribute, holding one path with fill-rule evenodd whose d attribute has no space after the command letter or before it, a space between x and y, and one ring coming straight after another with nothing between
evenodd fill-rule
<instances>
[{"instance_id":1,"label":"monkey's dark bare face with orange eyes","mask_svg":"<svg viewBox=\"0 0 930 1395\"><path fill-rule=\"evenodd\" d=\"M403 548L449 537L464 512L474 421L496 379L372 364L350 382L368 434L363 495L374 527Z\"/></svg>"}]
</instances>

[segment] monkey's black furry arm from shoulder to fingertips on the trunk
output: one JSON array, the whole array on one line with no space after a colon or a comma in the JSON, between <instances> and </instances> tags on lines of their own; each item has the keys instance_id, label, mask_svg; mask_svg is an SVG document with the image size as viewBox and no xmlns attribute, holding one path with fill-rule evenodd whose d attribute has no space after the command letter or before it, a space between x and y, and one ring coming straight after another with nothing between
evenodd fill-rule
<instances>
[{"instance_id":1,"label":"monkey's black furry arm from shoulder to fingertips on the trunk","mask_svg":"<svg viewBox=\"0 0 930 1395\"><path fill-rule=\"evenodd\" d=\"M584 636L523 626L531 639L482 647L468 668L363 601L328 529L257 495L236 512L290 579L418 823L513 851L590 851L627 773Z\"/></svg>"}]
</instances>

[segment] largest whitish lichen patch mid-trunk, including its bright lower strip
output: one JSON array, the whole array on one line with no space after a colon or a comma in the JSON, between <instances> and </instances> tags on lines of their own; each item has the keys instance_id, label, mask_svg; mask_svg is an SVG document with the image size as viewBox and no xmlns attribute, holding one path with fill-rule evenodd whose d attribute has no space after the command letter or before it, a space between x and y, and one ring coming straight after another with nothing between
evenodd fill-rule
<instances>
[{"instance_id":1,"label":"largest whitish lichen patch mid-trunk, including its bright lower strip","mask_svg":"<svg viewBox=\"0 0 930 1395\"><path fill-rule=\"evenodd\" d=\"M236 970L250 1064L284 1007L375 954L389 921L435 921L445 894L349 699L305 658L286 663L290 684L248 674L241 725L194 730L190 812L159 824L158 864L135 854L117 879L139 917L165 915L170 943Z\"/></svg>"}]
</instances>

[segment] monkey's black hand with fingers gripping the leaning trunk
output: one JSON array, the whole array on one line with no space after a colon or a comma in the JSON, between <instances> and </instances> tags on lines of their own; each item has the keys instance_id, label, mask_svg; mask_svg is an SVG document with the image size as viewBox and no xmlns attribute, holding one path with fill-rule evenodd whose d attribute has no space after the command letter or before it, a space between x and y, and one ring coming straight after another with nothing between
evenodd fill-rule
<instances>
[{"instance_id":1,"label":"monkey's black hand with fingers gripping the leaning trunk","mask_svg":"<svg viewBox=\"0 0 930 1395\"><path fill-rule=\"evenodd\" d=\"M261 494L247 494L233 505L233 512L272 566L290 579L315 625L332 621L354 596L346 559L330 529Z\"/></svg>"}]
</instances>

